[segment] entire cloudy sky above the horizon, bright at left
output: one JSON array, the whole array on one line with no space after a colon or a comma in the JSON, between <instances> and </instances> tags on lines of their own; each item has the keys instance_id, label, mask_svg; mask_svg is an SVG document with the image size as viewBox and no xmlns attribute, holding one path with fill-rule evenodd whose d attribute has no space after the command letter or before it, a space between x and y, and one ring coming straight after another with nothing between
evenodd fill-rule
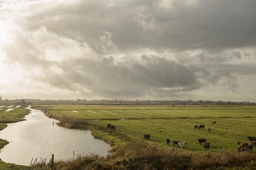
<instances>
[{"instance_id":1,"label":"entire cloudy sky above the horizon, bright at left","mask_svg":"<svg viewBox=\"0 0 256 170\"><path fill-rule=\"evenodd\" d=\"M255 6L0 0L0 96L256 102Z\"/></svg>"}]
</instances>

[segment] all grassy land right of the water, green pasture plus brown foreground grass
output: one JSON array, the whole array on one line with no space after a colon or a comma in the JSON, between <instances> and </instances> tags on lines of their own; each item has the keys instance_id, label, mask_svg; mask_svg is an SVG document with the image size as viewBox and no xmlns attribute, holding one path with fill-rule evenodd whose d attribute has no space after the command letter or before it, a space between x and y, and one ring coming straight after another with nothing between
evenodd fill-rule
<instances>
[{"instance_id":1,"label":"all grassy land right of the water, green pasture plus brown foreground grass","mask_svg":"<svg viewBox=\"0 0 256 170\"><path fill-rule=\"evenodd\" d=\"M56 162L56 169L233 169L256 165L255 151L236 152L238 141L250 143L246 137L256 136L256 106L33 107L59 119L67 128L90 128L92 135L112 145L107 158L79 157ZM212 125L213 120L217 124ZM116 130L107 129L109 123ZM201 124L206 128L193 129ZM151 135L150 140L143 140L144 133ZM188 146L166 145L167 137L171 142L186 141ZM197 139L205 137L210 142L209 151L198 144Z\"/></svg>"}]
</instances>

